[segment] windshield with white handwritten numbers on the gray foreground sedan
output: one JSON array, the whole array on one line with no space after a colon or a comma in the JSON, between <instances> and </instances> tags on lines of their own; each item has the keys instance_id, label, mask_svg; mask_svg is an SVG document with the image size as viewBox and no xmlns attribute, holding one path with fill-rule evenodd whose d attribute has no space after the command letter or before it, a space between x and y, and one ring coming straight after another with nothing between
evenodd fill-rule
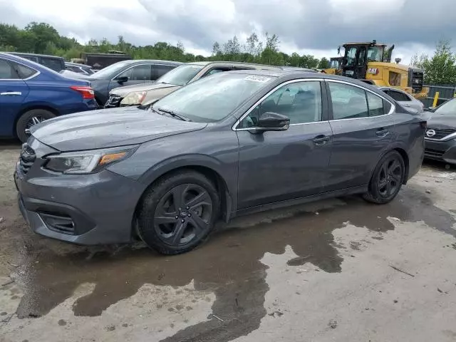
<instances>
[{"instance_id":1,"label":"windshield with white handwritten numbers on the gray foreground sedan","mask_svg":"<svg viewBox=\"0 0 456 342\"><path fill-rule=\"evenodd\" d=\"M154 103L152 110L166 110L199 123L217 122L274 78L246 73L216 73L170 93Z\"/></svg>"}]
</instances>

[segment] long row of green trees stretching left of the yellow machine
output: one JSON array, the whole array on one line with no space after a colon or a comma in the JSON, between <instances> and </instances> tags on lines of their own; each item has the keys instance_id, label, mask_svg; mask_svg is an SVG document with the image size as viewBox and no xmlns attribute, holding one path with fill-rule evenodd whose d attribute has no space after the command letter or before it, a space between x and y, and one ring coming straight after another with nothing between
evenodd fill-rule
<instances>
[{"instance_id":1,"label":"long row of green trees stretching left of the yellow machine","mask_svg":"<svg viewBox=\"0 0 456 342\"><path fill-rule=\"evenodd\" d=\"M264 40L263 40L264 38ZM245 42L237 36L224 43L215 42L212 46L212 56L194 55L185 51L181 42L173 46L170 43L158 41L153 45L136 46L118 36L116 43L103 38L99 41L90 39L80 43L75 38L61 36L56 28L46 23L35 21L25 28L15 25L0 24L0 51L16 51L42 53L61 56L70 61L80 58L83 52L107 53L111 50L123 51L134 59L163 59L168 61L239 61L249 63L269 64L273 66L299 66L301 68L328 68L328 59L318 59L312 55L291 55L279 51L279 37L266 33L259 37L252 33Z\"/></svg>"}]
</instances>

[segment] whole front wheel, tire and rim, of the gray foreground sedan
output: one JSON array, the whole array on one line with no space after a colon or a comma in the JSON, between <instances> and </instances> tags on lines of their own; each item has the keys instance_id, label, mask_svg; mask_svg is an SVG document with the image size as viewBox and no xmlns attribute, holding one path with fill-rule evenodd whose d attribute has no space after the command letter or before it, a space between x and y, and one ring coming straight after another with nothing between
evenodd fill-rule
<instances>
[{"instance_id":1,"label":"whole front wheel, tire and rim, of the gray foreground sedan","mask_svg":"<svg viewBox=\"0 0 456 342\"><path fill-rule=\"evenodd\" d=\"M204 175L175 172L146 190L138 210L138 234L161 254L189 252L212 232L219 208L217 189Z\"/></svg>"}]
</instances>

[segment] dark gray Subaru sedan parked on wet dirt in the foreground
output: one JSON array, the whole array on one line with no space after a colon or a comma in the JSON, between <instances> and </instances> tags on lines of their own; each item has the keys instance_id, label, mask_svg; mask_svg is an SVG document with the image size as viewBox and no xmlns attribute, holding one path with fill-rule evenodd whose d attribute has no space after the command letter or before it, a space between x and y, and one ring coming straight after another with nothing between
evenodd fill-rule
<instances>
[{"instance_id":1,"label":"dark gray Subaru sedan parked on wet dirt in the foreground","mask_svg":"<svg viewBox=\"0 0 456 342\"><path fill-rule=\"evenodd\" d=\"M140 108L32 129L16 166L33 231L76 244L140 237L163 254L218 219L324 197L390 202L418 172L426 123L366 83L229 71Z\"/></svg>"}]
</instances>

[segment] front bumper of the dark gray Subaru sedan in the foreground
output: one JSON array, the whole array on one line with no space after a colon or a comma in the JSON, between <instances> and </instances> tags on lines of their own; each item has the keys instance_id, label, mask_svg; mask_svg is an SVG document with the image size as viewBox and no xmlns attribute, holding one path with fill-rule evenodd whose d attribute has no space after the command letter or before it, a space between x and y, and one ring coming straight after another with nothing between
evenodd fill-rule
<instances>
[{"instance_id":1,"label":"front bumper of the dark gray Subaru sedan in the foreground","mask_svg":"<svg viewBox=\"0 0 456 342\"><path fill-rule=\"evenodd\" d=\"M36 160L14 181L19 209L33 232L73 244L120 244L132 239L135 207L143 185L108 170L58 175Z\"/></svg>"}]
</instances>

